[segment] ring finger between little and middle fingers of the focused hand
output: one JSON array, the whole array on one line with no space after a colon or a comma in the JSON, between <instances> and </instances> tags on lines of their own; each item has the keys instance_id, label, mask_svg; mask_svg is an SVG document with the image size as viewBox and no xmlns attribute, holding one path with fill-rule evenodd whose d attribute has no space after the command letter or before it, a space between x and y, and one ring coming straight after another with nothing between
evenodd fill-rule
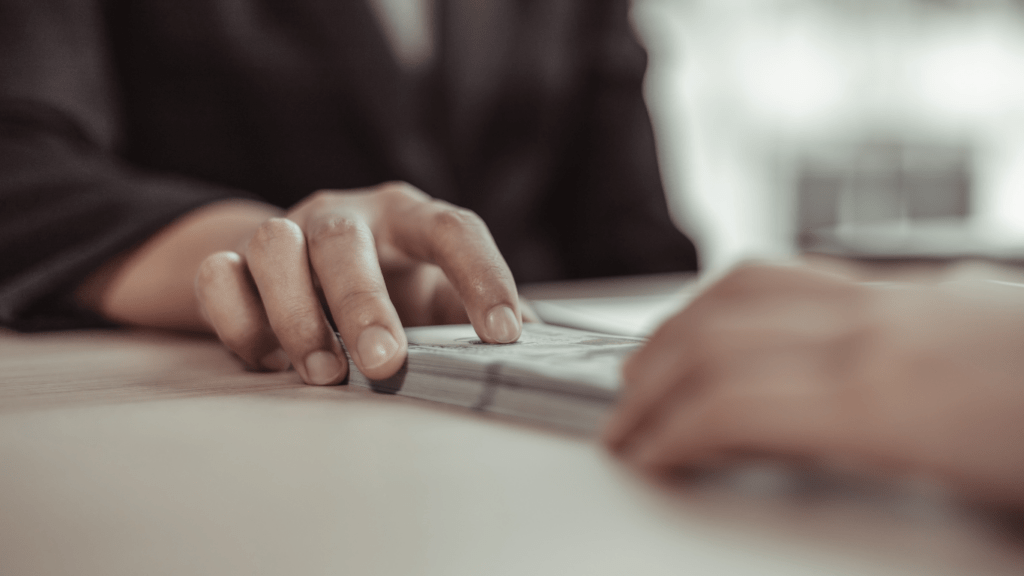
<instances>
[{"instance_id":1,"label":"ring finger between little and middle fingers of the focused hand","mask_svg":"<svg viewBox=\"0 0 1024 576\"><path fill-rule=\"evenodd\" d=\"M292 365L309 384L336 384L348 375L341 344L313 289L302 231L270 218L249 242L246 259L267 320Z\"/></svg>"}]
</instances>

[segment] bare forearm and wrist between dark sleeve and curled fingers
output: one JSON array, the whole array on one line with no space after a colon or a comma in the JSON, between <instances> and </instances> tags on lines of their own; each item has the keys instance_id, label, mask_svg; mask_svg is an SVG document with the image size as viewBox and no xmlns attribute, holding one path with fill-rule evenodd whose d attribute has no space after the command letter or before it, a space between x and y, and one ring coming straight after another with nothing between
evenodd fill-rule
<instances>
[{"instance_id":1,"label":"bare forearm and wrist between dark sleeve and curled fingers","mask_svg":"<svg viewBox=\"0 0 1024 576\"><path fill-rule=\"evenodd\" d=\"M193 287L200 262L214 252L240 250L260 222L282 213L249 200L196 209L111 258L78 287L76 300L119 324L210 331Z\"/></svg>"}]
</instances>

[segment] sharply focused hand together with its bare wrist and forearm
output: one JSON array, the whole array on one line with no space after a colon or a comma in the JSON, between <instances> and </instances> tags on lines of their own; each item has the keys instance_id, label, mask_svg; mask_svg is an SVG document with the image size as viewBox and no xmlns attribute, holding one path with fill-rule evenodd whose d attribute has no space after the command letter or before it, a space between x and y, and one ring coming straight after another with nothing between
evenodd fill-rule
<instances>
[{"instance_id":1,"label":"sharply focused hand together with its bare wrist and forearm","mask_svg":"<svg viewBox=\"0 0 1024 576\"><path fill-rule=\"evenodd\" d=\"M79 300L122 324L208 331L255 369L344 381L402 365L402 326L471 322L518 339L512 274L476 214L401 182L322 191L287 212L229 201L187 214L111 261ZM341 335L335 336L325 306Z\"/></svg>"}]
</instances>

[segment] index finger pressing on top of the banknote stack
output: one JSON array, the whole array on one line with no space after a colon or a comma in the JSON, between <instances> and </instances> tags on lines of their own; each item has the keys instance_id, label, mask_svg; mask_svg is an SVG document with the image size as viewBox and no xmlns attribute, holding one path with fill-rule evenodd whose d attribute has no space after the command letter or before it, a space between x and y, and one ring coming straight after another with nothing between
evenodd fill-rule
<instances>
[{"instance_id":1,"label":"index finger pressing on top of the banknote stack","mask_svg":"<svg viewBox=\"0 0 1024 576\"><path fill-rule=\"evenodd\" d=\"M393 198L385 219L394 245L444 271L480 339L517 340L522 316L515 281L483 220L470 210L415 193L389 194Z\"/></svg>"}]
</instances>

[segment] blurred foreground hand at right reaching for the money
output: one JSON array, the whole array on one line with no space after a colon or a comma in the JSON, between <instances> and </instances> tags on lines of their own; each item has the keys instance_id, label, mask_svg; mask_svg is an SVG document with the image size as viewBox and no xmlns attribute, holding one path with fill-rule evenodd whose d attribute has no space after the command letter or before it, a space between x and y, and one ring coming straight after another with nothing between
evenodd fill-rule
<instances>
[{"instance_id":1,"label":"blurred foreground hand at right reaching for the money","mask_svg":"<svg viewBox=\"0 0 1024 576\"><path fill-rule=\"evenodd\" d=\"M605 441L654 472L751 455L1024 503L1024 288L741 268L625 367Z\"/></svg>"}]
</instances>

